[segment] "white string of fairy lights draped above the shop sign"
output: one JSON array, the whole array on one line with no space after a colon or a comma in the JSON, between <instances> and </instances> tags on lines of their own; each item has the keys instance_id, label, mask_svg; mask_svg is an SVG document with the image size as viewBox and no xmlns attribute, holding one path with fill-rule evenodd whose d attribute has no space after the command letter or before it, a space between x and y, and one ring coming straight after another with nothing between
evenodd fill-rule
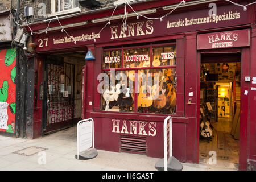
<instances>
[{"instance_id":1,"label":"white string of fairy lights draped above the shop sign","mask_svg":"<svg viewBox=\"0 0 256 182\"><path fill-rule=\"evenodd\" d=\"M244 11L247 10L247 6L250 6L250 5L253 5L254 3L256 3L256 1L254 1L254 2L249 3L249 4L247 4L247 5L241 5L241 4L239 4L239 3L236 3L236 2L233 2L233 1L230 1L230 0L225 0L225 1L228 1L228 2L232 3L233 5L243 7L243 10L244 10ZM167 14L165 14L165 15L163 15L163 16L160 16L160 17L158 17L158 18L148 18L147 16L144 16L144 15L142 15L142 14L137 13L137 11L135 11L135 10L133 9L133 7L129 4L129 2L125 2L125 6L124 6L124 16L123 16L123 20L122 20L122 22L123 22L123 28L124 28L125 30L127 30L127 23L126 23L126 22L127 22L127 15L128 15L128 12L126 11L126 6L129 6L130 9L133 10L133 12L137 15L137 19L139 19L139 17L141 16L141 17L146 18L146 19L148 19L148 20L159 19L160 22L162 22L162 21L163 21L163 18L166 18L166 16L170 15L170 14L171 14L173 11L175 11L181 4L184 5L185 3L186 3L185 0L181 1L180 3L178 3L178 4L176 5L176 7L174 7L174 9L172 9L169 13L167 13ZM115 6L115 8L114 8L114 10L113 10L113 13L112 13L112 15L110 16L108 22L105 24L104 27L101 28L101 30L98 32L98 34L100 34L101 31L104 30L104 28L106 28L106 26L108 26L108 25L111 24L110 21L112 20L112 17L113 17L113 15L114 15L115 10L117 9L117 7L118 7L118 5ZM67 36L69 36L69 38L71 38L71 35L68 34L68 32L65 30L65 28L63 27L63 25L60 23L60 20L59 20L59 17L58 17L58 16L56 16L56 19L57 19L57 21L58 21L59 24L60 24L61 32L65 32L65 34L67 34ZM20 25L18 22L16 22L15 20L14 20L14 22L15 22L16 24L18 24L19 26L21 26L21 25ZM48 33L47 30L48 30L48 28L49 28L51 22L52 22L52 19L49 20L49 23L48 23L47 28L45 29L45 31L42 31L42 32L35 32L35 31L33 31L32 28L29 26L29 24L27 24L27 27L30 29L30 32L31 32L30 34L31 34L31 35L33 35L33 34L43 34L43 33L47 34L47 33ZM74 41L74 43L76 44L77 41L79 41L79 42L86 42L86 41L89 41L89 40L94 40L94 42L96 42L96 39L95 39L95 38L91 38L91 39L86 39L86 40L76 40L76 41Z\"/></svg>"}]
</instances>

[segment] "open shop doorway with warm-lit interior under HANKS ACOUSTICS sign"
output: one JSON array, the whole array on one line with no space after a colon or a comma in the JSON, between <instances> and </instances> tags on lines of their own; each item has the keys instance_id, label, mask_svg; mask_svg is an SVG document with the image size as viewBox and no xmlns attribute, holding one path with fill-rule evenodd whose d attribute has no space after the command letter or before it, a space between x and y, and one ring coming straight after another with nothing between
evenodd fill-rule
<instances>
[{"instance_id":1,"label":"open shop doorway with warm-lit interior under HANKS ACOUSTICS sign","mask_svg":"<svg viewBox=\"0 0 256 182\"><path fill-rule=\"evenodd\" d=\"M215 57L217 58L217 57ZM199 162L238 168L241 55L217 59L201 56ZM214 160L211 160L214 162Z\"/></svg>"}]
</instances>

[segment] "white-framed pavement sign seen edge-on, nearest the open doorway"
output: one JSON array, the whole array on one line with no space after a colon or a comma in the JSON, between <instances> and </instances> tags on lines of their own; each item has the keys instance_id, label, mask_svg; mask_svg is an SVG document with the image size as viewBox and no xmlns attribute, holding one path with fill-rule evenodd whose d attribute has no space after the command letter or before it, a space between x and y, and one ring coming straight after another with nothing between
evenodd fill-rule
<instances>
[{"instance_id":1,"label":"white-framed pavement sign seen edge-on, nearest the open doorway","mask_svg":"<svg viewBox=\"0 0 256 182\"><path fill-rule=\"evenodd\" d=\"M168 122L169 124L167 125ZM182 171L183 165L179 162L179 160L177 160L174 156L172 156L172 118L170 116L164 119L163 131L164 131L164 158L160 159L155 164L155 168L158 169L158 171ZM167 143L167 141L169 141L169 143Z\"/></svg>"}]
</instances>

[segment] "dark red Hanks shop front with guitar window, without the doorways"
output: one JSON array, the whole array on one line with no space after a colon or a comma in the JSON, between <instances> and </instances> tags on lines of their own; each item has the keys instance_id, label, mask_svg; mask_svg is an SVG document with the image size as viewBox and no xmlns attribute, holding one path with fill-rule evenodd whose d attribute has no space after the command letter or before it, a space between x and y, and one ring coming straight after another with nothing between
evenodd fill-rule
<instances>
[{"instance_id":1,"label":"dark red Hanks shop front with guitar window, without the doorways","mask_svg":"<svg viewBox=\"0 0 256 182\"><path fill-rule=\"evenodd\" d=\"M164 1L165 2L165 1ZM255 122L249 121L249 101L254 91L250 90L250 82L243 81L245 76L253 76L254 67L254 29L251 29L253 9L248 7L243 11L241 7L225 3L218 6L218 14L222 18L216 19L208 15L208 4L201 5L200 10L180 9L178 13L171 14L160 20L137 19L136 16L127 19L127 30L123 29L121 19L113 20L110 25L103 23L88 23L84 27L67 28L67 32L48 31L48 34L33 35L32 42L38 43L36 53L40 56L35 60L42 61L42 57L52 53L75 52L91 50L95 60L86 60L85 71L82 72L83 89L82 113L84 118L94 119L95 147L99 150L114 152L133 152L151 157L163 157L163 121L172 116L173 155L180 162L199 163L199 135L200 135L200 65L205 55L225 56L226 54L239 53L241 55L241 115L240 115L240 169L247 169L247 160L255 160ZM148 8L158 7L156 3L149 3ZM254 6L253 6L254 7ZM143 10L141 5L134 5L136 10ZM110 12L111 11L111 12ZM117 12L122 13L123 7ZM148 15L160 16L163 12ZM105 16L110 16L112 10ZM76 21L100 18L92 15L80 15L77 19L60 20L61 24L76 23ZM225 17L225 18L223 18ZM90 22L90 21L89 21ZM51 27L59 26L52 22ZM31 26L32 29L43 29L47 23ZM33 30L34 30L33 29ZM225 36L224 33L234 31L235 35ZM212 47L205 47L209 36L222 34L219 40L214 37L216 43ZM211 34L208 36L208 34ZM238 34L238 35L237 35ZM204 36L207 35L207 36ZM226 34L225 34L226 35ZM234 35L234 36L233 36ZM243 35L243 36L241 36ZM247 39L246 39L247 38ZM95 39L96 42L93 40ZM86 41L88 40L88 41ZM221 42L221 43L219 43ZM202 47L200 47L202 46ZM239 56L238 56L239 57ZM113 73L114 72L114 73ZM123 80L132 83L133 90L122 99L123 105L112 94L98 92L102 88L104 80L101 73L105 73L111 80L112 73L117 77L118 73L127 76ZM129 75L130 73L130 75ZM142 87L140 74L146 76L146 80L152 78L158 81L158 88L162 89L166 102L158 102L160 99L148 98L150 94L141 96L136 92ZM121 75L122 75L121 74ZM151 75L150 75L151 74ZM42 69L39 75L43 75ZM40 77L42 78L42 77ZM106 77L105 77L106 78ZM43 78L42 78L43 79ZM115 79L114 79L115 80ZM117 88L118 78L111 85ZM102 85L101 85L102 84ZM100 86L99 86L100 85ZM121 84L122 86L122 84ZM123 85L124 86L124 85ZM157 86L156 86L157 87ZM125 88L125 86L124 86ZM152 90L154 90L152 86ZM142 90L142 89L141 89ZM145 89L147 90L147 89ZM245 90L249 94L244 94ZM251 93L251 94L250 94ZM159 94L162 94L159 92ZM129 100L130 99L130 100ZM39 101L39 100L38 100ZM108 101L108 102L107 102ZM40 101L39 101L40 102ZM253 102L253 100L251 100ZM129 103L129 104L127 104ZM161 104L156 104L161 103ZM253 102L254 103L254 102ZM251 106L252 108L252 106ZM255 115L251 113L252 117ZM40 120L40 119L39 119ZM254 127L255 128L255 127ZM253 162L251 162L253 164ZM255 164L254 164L255 165Z\"/></svg>"}]
</instances>

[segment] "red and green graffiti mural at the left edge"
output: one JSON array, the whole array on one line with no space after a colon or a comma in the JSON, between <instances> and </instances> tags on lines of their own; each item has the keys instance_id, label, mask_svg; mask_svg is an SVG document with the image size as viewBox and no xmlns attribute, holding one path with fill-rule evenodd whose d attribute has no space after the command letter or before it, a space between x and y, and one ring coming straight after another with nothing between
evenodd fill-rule
<instances>
[{"instance_id":1,"label":"red and green graffiti mural at the left edge","mask_svg":"<svg viewBox=\"0 0 256 182\"><path fill-rule=\"evenodd\" d=\"M15 132L16 51L0 50L0 131Z\"/></svg>"}]
</instances>

